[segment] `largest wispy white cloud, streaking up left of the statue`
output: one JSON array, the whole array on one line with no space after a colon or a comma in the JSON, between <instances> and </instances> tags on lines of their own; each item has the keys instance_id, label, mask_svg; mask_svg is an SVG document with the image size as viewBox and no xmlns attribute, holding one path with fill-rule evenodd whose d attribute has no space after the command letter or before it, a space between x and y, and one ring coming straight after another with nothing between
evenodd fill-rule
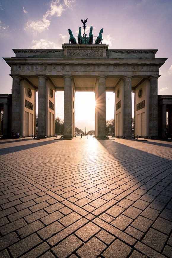
<instances>
[{"instance_id":1,"label":"largest wispy white cloud, streaking up left of the statue","mask_svg":"<svg viewBox=\"0 0 172 258\"><path fill-rule=\"evenodd\" d=\"M45 15L43 15L42 20L31 21L29 20L26 24L25 30L31 29L33 32L39 32L48 30L50 26L50 17L56 16L60 17L62 13L65 11L65 8L71 8L71 4L74 3L75 0L64 0L63 3L60 3L60 0L55 0L50 2L50 9L47 10ZM24 9L24 8L23 8Z\"/></svg>"}]
</instances>

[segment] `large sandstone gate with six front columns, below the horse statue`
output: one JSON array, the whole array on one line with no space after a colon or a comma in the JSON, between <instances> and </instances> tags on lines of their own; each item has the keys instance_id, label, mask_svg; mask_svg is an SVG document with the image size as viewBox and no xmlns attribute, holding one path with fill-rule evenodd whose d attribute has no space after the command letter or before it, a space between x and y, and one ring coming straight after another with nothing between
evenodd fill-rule
<instances>
[{"instance_id":1,"label":"large sandstone gate with six front columns, below the horse statue","mask_svg":"<svg viewBox=\"0 0 172 258\"><path fill-rule=\"evenodd\" d=\"M86 34L85 34L86 35ZM70 42L70 41L69 41ZM107 44L63 44L62 49L13 49L4 58L11 67L12 130L35 135L38 91L38 137L55 135L55 92L64 91L64 138L74 136L75 92L95 92L95 137L106 137L106 91L115 93L115 136L158 136L159 68L167 58L157 50L108 49Z\"/></svg>"}]
</instances>

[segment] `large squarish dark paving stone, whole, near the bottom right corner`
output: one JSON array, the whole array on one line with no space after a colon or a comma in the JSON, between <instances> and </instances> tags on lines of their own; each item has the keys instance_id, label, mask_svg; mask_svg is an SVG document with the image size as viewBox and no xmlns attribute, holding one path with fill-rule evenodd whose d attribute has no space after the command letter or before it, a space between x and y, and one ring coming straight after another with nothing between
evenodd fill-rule
<instances>
[{"instance_id":1,"label":"large squarish dark paving stone, whole, near the bottom right corner","mask_svg":"<svg viewBox=\"0 0 172 258\"><path fill-rule=\"evenodd\" d=\"M151 228L143 238L142 242L156 251L161 252L166 240L167 235Z\"/></svg>"}]
</instances>

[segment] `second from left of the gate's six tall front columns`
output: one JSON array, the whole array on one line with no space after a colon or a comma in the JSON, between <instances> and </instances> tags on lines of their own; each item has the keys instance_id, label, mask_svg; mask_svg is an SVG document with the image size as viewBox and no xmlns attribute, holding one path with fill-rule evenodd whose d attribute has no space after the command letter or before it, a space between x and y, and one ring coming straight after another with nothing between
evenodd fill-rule
<instances>
[{"instance_id":1,"label":"second from left of the gate's six tall front columns","mask_svg":"<svg viewBox=\"0 0 172 258\"><path fill-rule=\"evenodd\" d=\"M46 135L46 77L38 76L38 137Z\"/></svg>"}]
</instances>

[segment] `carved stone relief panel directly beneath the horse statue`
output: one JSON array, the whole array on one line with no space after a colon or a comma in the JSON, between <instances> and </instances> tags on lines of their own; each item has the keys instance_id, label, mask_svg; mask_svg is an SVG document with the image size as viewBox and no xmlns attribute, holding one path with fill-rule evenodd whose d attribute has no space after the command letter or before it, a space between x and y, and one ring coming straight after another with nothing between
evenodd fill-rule
<instances>
[{"instance_id":1,"label":"carved stone relief panel directly beneath the horse statue","mask_svg":"<svg viewBox=\"0 0 172 258\"><path fill-rule=\"evenodd\" d=\"M67 50L67 56L68 57L95 57L95 56L103 56L103 50L81 50L81 49L76 49L76 50Z\"/></svg>"}]
</instances>

